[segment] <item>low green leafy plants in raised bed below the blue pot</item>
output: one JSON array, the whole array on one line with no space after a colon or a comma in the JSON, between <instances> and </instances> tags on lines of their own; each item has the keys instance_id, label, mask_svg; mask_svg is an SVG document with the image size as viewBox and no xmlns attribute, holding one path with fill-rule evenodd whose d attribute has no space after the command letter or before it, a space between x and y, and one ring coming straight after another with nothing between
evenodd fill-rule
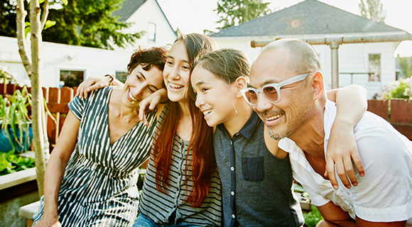
<instances>
[{"instance_id":1,"label":"low green leafy plants in raised bed below the blue pot","mask_svg":"<svg viewBox=\"0 0 412 227\"><path fill-rule=\"evenodd\" d=\"M13 151L0 153L0 176L34 167L34 159L15 155Z\"/></svg>"}]
</instances>

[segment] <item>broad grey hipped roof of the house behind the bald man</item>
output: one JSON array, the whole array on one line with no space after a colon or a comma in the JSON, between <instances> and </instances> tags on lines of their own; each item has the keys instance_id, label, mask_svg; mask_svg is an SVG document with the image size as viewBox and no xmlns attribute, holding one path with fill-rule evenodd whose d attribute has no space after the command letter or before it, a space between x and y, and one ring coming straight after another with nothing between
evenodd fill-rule
<instances>
[{"instance_id":1,"label":"broad grey hipped roof of the house behind the bald man","mask_svg":"<svg viewBox=\"0 0 412 227\"><path fill-rule=\"evenodd\" d=\"M260 18L224 28L212 37L406 32L317 0L306 0Z\"/></svg>"}]
</instances>

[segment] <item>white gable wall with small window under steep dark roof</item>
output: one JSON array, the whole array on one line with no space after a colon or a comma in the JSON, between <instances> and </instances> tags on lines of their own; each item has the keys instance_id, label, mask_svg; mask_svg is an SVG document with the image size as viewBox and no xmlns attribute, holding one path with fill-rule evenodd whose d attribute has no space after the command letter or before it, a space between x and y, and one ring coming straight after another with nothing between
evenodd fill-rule
<instances>
[{"instance_id":1,"label":"white gable wall with small window under steep dark roof","mask_svg":"<svg viewBox=\"0 0 412 227\"><path fill-rule=\"evenodd\" d=\"M146 1L126 22L134 22L134 24L130 28L124 29L124 33L147 31L149 22L156 24L156 42L149 41L146 32L134 45L128 45L127 50L134 50L139 45L142 47L164 46L173 43L177 38L156 0ZM119 50L119 48L114 49Z\"/></svg>"}]
</instances>

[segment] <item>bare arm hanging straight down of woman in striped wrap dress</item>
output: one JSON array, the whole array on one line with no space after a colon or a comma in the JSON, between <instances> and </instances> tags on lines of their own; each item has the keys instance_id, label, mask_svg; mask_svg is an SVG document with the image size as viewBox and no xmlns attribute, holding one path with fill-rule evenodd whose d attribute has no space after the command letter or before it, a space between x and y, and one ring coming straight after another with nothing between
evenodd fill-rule
<instances>
[{"instance_id":1,"label":"bare arm hanging straight down of woman in striped wrap dress","mask_svg":"<svg viewBox=\"0 0 412 227\"><path fill-rule=\"evenodd\" d=\"M69 111L60 132L58 143L56 143L50 155L50 160L45 170L44 211L42 218L36 223L35 227L60 226L58 221L58 194L67 162L73 150L75 150L79 126L80 120L72 114L72 111Z\"/></svg>"}]
</instances>

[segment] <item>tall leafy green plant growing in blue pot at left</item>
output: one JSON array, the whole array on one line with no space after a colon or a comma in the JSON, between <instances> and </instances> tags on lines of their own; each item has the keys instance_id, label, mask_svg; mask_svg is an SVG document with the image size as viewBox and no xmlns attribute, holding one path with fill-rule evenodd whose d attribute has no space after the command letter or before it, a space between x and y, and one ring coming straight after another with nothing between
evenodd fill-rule
<instances>
[{"instance_id":1,"label":"tall leafy green plant growing in blue pot at left","mask_svg":"<svg viewBox=\"0 0 412 227\"><path fill-rule=\"evenodd\" d=\"M31 106L31 94L26 87L21 92L16 90L11 100L0 95L1 132L9 139L13 151L30 144L28 106Z\"/></svg>"}]
</instances>

